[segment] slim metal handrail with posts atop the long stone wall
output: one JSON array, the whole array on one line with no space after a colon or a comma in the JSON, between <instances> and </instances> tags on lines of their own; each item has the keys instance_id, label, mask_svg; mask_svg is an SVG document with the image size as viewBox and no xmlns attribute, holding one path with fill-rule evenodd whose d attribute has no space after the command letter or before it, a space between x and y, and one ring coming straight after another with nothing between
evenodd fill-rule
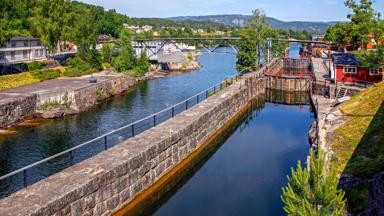
<instances>
[{"instance_id":1,"label":"slim metal handrail with posts atop the long stone wall","mask_svg":"<svg viewBox=\"0 0 384 216\"><path fill-rule=\"evenodd\" d=\"M196 104L199 104L201 101L204 101L208 97L216 94L238 79L239 75L228 77L224 81L217 83L212 87L173 105L172 107L161 110L160 112L154 113L131 124L114 129L106 134L83 142L70 149L1 176L0 198L8 196L17 190L27 187L28 185L38 182L69 166L105 151L123 140L134 137L158 124L161 124L162 122L175 117L177 114L188 110Z\"/></svg>"}]
</instances>

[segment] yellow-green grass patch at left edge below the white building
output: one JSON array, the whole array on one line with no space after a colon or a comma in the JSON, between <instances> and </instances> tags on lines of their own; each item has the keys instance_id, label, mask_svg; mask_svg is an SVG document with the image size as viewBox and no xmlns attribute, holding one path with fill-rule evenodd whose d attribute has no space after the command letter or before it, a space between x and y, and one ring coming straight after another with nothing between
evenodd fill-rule
<instances>
[{"instance_id":1,"label":"yellow-green grass patch at left edge below the white building","mask_svg":"<svg viewBox=\"0 0 384 216\"><path fill-rule=\"evenodd\" d=\"M32 83L40 82L30 72L0 76L0 90L16 88Z\"/></svg>"}]
</instances>

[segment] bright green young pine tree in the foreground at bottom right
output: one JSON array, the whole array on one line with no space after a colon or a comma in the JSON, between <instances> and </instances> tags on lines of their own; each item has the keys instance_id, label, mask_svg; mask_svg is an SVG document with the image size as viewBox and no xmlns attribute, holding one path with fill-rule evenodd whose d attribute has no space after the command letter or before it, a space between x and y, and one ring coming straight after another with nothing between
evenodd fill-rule
<instances>
[{"instance_id":1,"label":"bright green young pine tree in the foreground at bottom right","mask_svg":"<svg viewBox=\"0 0 384 216\"><path fill-rule=\"evenodd\" d=\"M344 216L344 193L337 185L338 177L334 170L327 169L325 154L319 151L315 155L311 150L308 166L302 168L299 161L283 188L284 210L288 215Z\"/></svg>"}]
</instances>

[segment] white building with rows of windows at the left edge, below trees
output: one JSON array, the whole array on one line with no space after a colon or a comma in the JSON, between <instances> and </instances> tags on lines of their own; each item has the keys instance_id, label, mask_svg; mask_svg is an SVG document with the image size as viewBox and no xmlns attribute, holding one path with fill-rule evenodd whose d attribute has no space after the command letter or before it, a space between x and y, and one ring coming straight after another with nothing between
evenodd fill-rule
<instances>
[{"instance_id":1,"label":"white building with rows of windows at the left edge, below trees","mask_svg":"<svg viewBox=\"0 0 384 216\"><path fill-rule=\"evenodd\" d=\"M13 37L0 48L0 64L47 60L47 49L33 37Z\"/></svg>"}]
</instances>

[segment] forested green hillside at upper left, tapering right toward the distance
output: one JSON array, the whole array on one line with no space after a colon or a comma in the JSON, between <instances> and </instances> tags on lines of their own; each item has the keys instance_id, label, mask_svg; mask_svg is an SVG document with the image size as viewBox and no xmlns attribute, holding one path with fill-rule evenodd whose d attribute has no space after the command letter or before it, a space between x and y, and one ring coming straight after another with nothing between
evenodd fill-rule
<instances>
[{"instance_id":1,"label":"forested green hillside at upper left, tapering right toward the distance","mask_svg":"<svg viewBox=\"0 0 384 216\"><path fill-rule=\"evenodd\" d=\"M118 37L123 23L152 25L154 30L202 28L226 31L230 27L210 21L170 21L157 18L129 18L115 10L69 0L1 0L0 44L14 36L40 38L50 49L58 41L92 43L98 34Z\"/></svg>"}]
</instances>

